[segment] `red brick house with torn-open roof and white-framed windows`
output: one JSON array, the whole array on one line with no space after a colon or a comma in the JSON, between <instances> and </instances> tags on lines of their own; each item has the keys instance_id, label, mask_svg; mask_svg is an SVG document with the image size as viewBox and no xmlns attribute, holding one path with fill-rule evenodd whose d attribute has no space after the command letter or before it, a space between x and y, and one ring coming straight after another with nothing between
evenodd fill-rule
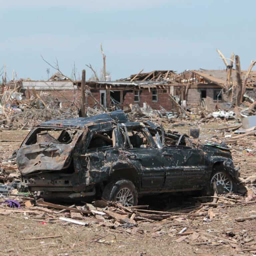
<instances>
[{"instance_id":1,"label":"red brick house with torn-open roof and white-framed windows","mask_svg":"<svg viewBox=\"0 0 256 256\"><path fill-rule=\"evenodd\" d=\"M183 84L174 85L174 71L152 71L139 73L117 81L88 81L92 95L104 106L118 106L120 109L130 108L130 104L140 107L147 103L153 109L173 110L176 108L170 95L179 95L183 100ZM95 102L88 99L88 104Z\"/></svg>"}]
</instances>

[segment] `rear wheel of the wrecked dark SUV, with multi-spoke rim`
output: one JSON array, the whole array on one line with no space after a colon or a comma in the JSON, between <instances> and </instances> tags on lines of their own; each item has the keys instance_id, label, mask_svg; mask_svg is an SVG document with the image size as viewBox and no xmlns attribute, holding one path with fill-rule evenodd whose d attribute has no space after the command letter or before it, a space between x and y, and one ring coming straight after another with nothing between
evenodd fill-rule
<instances>
[{"instance_id":1,"label":"rear wheel of the wrecked dark SUV, with multi-spoke rim","mask_svg":"<svg viewBox=\"0 0 256 256\"><path fill-rule=\"evenodd\" d=\"M108 183L102 193L102 198L121 203L126 207L138 204L137 189L129 180L118 180Z\"/></svg>"}]
</instances>

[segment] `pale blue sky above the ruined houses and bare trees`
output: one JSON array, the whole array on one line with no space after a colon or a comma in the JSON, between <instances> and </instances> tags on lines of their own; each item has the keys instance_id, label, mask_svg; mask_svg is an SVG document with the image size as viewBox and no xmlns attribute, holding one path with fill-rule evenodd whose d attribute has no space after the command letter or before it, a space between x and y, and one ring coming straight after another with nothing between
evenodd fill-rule
<instances>
[{"instance_id":1,"label":"pale blue sky above the ruined houses and bare trees","mask_svg":"<svg viewBox=\"0 0 256 256\"><path fill-rule=\"evenodd\" d=\"M222 69L217 47L227 58L238 54L242 69L256 59L253 0L9 2L0 0L0 66L6 63L9 78L15 69L18 78L46 79L41 54L57 57L69 76L75 62L89 78L85 64L101 69L101 42L112 80L142 68Z\"/></svg>"}]
</instances>

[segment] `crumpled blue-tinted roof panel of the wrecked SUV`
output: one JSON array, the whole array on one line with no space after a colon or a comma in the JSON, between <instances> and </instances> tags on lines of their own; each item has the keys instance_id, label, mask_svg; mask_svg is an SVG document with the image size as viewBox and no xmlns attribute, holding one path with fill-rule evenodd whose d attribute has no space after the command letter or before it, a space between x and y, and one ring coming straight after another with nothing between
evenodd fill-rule
<instances>
[{"instance_id":1,"label":"crumpled blue-tinted roof panel of the wrecked SUV","mask_svg":"<svg viewBox=\"0 0 256 256\"><path fill-rule=\"evenodd\" d=\"M50 120L39 124L38 126L45 127L60 127L60 128L83 128L92 124L104 122L126 123L129 122L123 110L116 110L109 113L103 113L91 117L79 117L73 119Z\"/></svg>"}]
</instances>

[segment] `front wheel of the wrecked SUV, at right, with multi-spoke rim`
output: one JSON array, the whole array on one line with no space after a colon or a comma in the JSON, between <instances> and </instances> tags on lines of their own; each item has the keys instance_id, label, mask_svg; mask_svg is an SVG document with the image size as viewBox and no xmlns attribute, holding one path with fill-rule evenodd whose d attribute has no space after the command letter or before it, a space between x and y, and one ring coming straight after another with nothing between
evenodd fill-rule
<instances>
[{"instance_id":1,"label":"front wheel of the wrecked SUV, at right, with multi-spoke rim","mask_svg":"<svg viewBox=\"0 0 256 256\"><path fill-rule=\"evenodd\" d=\"M216 187L220 187L222 194L237 192L237 183L227 173L223 171L215 171L211 176L210 187L213 191L214 183Z\"/></svg>"}]
</instances>

